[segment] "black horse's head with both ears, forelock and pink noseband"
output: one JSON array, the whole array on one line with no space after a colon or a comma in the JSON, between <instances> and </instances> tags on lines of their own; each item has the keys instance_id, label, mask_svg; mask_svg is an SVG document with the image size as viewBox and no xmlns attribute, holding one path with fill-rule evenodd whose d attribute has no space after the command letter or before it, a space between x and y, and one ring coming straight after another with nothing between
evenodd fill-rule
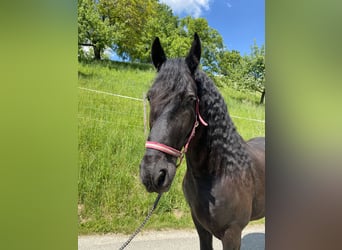
<instances>
[{"instance_id":1,"label":"black horse's head with both ears, forelock and pink noseband","mask_svg":"<svg viewBox=\"0 0 342 250\"><path fill-rule=\"evenodd\" d=\"M162 193L169 190L177 159L184 153L182 148L190 142L197 123L194 73L201 57L201 43L195 34L186 58L168 60L156 38L151 55L158 74L147 94L150 133L140 177L147 191Z\"/></svg>"}]
</instances>

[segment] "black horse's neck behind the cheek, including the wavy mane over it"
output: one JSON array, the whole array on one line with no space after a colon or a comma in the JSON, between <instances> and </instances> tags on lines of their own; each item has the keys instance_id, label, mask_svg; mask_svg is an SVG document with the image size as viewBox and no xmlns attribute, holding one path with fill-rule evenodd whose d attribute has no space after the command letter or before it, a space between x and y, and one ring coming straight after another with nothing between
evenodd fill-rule
<instances>
[{"instance_id":1,"label":"black horse's neck behind the cheek, including the wavy mane over it","mask_svg":"<svg viewBox=\"0 0 342 250\"><path fill-rule=\"evenodd\" d=\"M227 106L212 81L201 76L200 112L208 127L200 126L189 147L188 165L200 172L236 172L250 166L245 141L229 117Z\"/></svg>"}]
</instances>

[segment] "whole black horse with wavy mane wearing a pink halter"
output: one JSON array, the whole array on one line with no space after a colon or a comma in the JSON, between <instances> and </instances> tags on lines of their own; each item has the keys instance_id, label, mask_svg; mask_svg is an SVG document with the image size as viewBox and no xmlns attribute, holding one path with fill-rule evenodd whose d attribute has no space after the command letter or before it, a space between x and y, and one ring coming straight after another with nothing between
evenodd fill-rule
<instances>
[{"instance_id":1,"label":"whole black horse with wavy mane wearing a pink halter","mask_svg":"<svg viewBox=\"0 0 342 250\"><path fill-rule=\"evenodd\" d=\"M200 57L197 34L182 59L167 60L159 39L153 42L158 75L148 92L151 131L140 176L149 192L168 191L185 153L183 191L201 250L212 249L212 235L223 249L240 249L242 229L265 213L265 138L242 139L212 80L197 68Z\"/></svg>"}]
</instances>

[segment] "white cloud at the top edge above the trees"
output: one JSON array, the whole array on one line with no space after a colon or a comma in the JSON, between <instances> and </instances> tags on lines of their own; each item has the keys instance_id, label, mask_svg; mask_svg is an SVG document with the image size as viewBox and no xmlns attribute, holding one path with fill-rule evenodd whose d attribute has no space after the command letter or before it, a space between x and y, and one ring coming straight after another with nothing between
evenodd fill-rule
<instances>
[{"instance_id":1,"label":"white cloud at the top edge above the trees","mask_svg":"<svg viewBox=\"0 0 342 250\"><path fill-rule=\"evenodd\" d=\"M185 13L199 17L203 10L209 10L210 0L160 0L160 2L169 5L175 14Z\"/></svg>"}]
</instances>

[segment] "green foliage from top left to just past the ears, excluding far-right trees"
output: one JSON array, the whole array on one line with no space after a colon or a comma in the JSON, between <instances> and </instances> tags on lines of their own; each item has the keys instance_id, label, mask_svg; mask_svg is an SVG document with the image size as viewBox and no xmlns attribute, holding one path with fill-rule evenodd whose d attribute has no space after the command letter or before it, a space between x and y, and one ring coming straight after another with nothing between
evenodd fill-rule
<instances>
[{"instance_id":1,"label":"green foliage from top left to just past the ears, excluding far-right trees","mask_svg":"<svg viewBox=\"0 0 342 250\"><path fill-rule=\"evenodd\" d=\"M104 49L110 47L123 59L149 62L151 43L156 36L169 58L183 57L195 32L203 45L204 69L217 72L223 40L206 19L179 19L169 6L154 0L79 0L79 44L92 46L95 59L100 59ZM81 49L79 55L81 59L86 56Z\"/></svg>"}]
</instances>

